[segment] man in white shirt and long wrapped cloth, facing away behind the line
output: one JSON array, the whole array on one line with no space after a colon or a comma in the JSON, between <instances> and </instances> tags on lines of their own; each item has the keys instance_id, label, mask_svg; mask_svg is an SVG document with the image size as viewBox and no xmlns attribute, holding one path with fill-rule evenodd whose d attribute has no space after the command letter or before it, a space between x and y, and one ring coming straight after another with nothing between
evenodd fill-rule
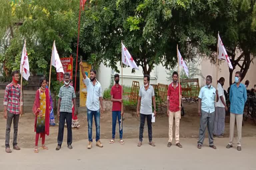
<instances>
[{"instance_id":1,"label":"man in white shirt and long wrapped cloth, facing away behind the line","mask_svg":"<svg viewBox=\"0 0 256 170\"><path fill-rule=\"evenodd\" d=\"M213 135L216 137L223 137L224 135L226 115L225 111L228 111L223 89L224 83L225 79L224 77L221 77L217 85L219 101L215 103L215 121Z\"/></svg>"}]
</instances>

